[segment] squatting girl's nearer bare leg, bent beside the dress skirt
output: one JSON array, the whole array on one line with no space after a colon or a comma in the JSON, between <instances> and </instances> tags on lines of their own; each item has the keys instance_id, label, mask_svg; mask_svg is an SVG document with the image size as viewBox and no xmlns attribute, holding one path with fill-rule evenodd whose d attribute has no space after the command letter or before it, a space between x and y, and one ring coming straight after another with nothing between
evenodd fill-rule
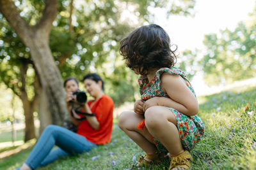
<instances>
[{"instance_id":1,"label":"squatting girl's nearer bare leg, bent beside the dress skirt","mask_svg":"<svg viewBox=\"0 0 256 170\"><path fill-rule=\"evenodd\" d=\"M157 138L171 156L184 152L176 127L175 116L164 106L152 106L145 111L148 132Z\"/></svg>"}]
</instances>

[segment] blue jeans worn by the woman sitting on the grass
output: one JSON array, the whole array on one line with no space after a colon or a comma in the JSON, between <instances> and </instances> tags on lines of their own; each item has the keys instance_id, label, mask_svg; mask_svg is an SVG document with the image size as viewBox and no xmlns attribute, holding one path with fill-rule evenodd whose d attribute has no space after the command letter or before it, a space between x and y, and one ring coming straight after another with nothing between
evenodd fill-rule
<instances>
[{"instance_id":1,"label":"blue jeans worn by the woman sitting on the grass","mask_svg":"<svg viewBox=\"0 0 256 170\"><path fill-rule=\"evenodd\" d=\"M52 150L54 145L59 148ZM49 125L29 154L26 164L31 169L36 169L65 155L88 152L95 146L97 145L88 141L84 136L58 125Z\"/></svg>"}]
</instances>

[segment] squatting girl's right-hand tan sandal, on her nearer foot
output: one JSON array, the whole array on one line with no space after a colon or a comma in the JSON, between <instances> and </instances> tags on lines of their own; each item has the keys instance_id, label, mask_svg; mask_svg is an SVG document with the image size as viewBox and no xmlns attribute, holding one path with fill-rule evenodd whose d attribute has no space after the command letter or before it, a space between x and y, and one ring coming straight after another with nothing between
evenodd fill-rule
<instances>
[{"instance_id":1,"label":"squatting girl's right-hand tan sandal, on her nearer foot","mask_svg":"<svg viewBox=\"0 0 256 170\"><path fill-rule=\"evenodd\" d=\"M171 163L170 163L170 169L173 169L175 167L177 168L183 168L188 169L191 167L191 163L189 161L193 161L192 156L188 152L188 150L185 150L184 152L180 153L177 156L171 157Z\"/></svg>"}]
</instances>

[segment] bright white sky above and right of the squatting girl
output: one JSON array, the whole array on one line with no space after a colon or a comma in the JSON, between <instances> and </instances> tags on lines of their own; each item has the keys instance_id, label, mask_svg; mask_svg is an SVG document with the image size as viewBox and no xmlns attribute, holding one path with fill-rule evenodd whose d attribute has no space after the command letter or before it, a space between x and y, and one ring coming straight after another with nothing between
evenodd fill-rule
<instances>
[{"instance_id":1,"label":"bright white sky above and right of the squatting girl","mask_svg":"<svg viewBox=\"0 0 256 170\"><path fill-rule=\"evenodd\" d=\"M255 0L197 0L195 17L173 15L166 19L164 10L153 11L156 15L155 24L161 25L168 32L172 43L183 50L204 50L205 34L217 33L222 29L234 29L238 22L248 19L253 11ZM207 87L198 73L191 81L198 96L209 94L209 91L220 87Z\"/></svg>"}]
</instances>

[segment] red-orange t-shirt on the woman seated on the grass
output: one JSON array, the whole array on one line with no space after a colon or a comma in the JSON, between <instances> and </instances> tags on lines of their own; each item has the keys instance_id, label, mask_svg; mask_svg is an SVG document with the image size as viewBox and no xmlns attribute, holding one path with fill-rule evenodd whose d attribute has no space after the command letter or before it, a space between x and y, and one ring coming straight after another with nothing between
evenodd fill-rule
<instances>
[{"instance_id":1,"label":"red-orange t-shirt on the woman seated on the grass","mask_svg":"<svg viewBox=\"0 0 256 170\"><path fill-rule=\"evenodd\" d=\"M84 136L88 141L97 145L106 144L111 139L114 102L111 97L106 95L100 97L91 107L92 102L89 101L88 105L92 112L95 113L100 128L99 130L93 129L85 119L78 125L77 134Z\"/></svg>"}]
</instances>

